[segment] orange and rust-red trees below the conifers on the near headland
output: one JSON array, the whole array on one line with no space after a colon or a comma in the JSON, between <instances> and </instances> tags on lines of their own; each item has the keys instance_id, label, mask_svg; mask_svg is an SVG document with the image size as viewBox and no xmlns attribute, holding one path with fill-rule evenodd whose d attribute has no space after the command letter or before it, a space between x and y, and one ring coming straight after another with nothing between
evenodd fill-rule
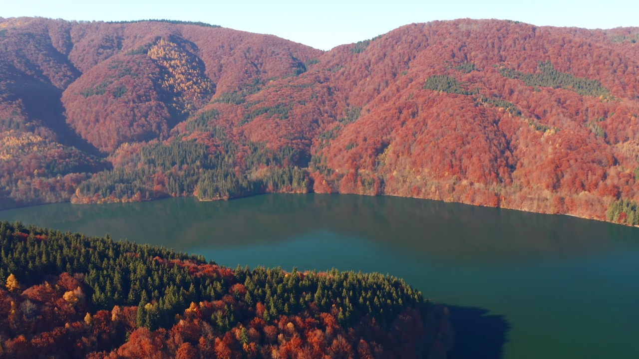
<instances>
[{"instance_id":1,"label":"orange and rust-red trees below the conifers on the near headland","mask_svg":"<svg viewBox=\"0 0 639 359\"><path fill-rule=\"evenodd\" d=\"M231 279L232 280L232 279ZM433 326L427 334L424 319L417 309L406 309L391 323L389 330L374 319L362 317L350 328L339 325L335 314L318 309L275 317L270 323L262 318L262 303L256 309L226 295L227 300L191 303L173 328L151 332L135 323L136 307L115 306L112 310L91 312L78 300L81 277L59 275L56 286L47 282L27 288L24 293L0 289L0 345L8 357L36 356L82 357L91 359L133 358L417 358L430 348L430 340L449 348L447 320L438 312L429 319ZM78 285L66 291L62 284ZM233 284L233 293L245 291ZM68 294L72 293L72 294ZM315 308L317 306L314 306ZM233 310L245 317L241 323L220 331L209 318L221 310ZM262 314L260 314L260 311ZM28 313L27 313L28 312ZM22 317L22 316L25 317ZM29 316L31 319L26 319ZM319 318L316 319L316 318ZM128 340L124 338L128 333ZM365 338L366 340L362 339ZM413 340L426 340L419 346ZM371 343L371 344L369 344Z\"/></svg>"}]
</instances>

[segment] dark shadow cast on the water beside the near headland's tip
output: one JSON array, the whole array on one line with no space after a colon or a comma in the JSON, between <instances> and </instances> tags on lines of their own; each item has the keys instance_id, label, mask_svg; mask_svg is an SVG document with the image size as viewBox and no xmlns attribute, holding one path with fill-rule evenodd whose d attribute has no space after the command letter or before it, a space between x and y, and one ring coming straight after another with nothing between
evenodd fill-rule
<instances>
[{"instance_id":1,"label":"dark shadow cast on the water beside the near headland's tip","mask_svg":"<svg viewBox=\"0 0 639 359\"><path fill-rule=\"evenodd\" d=\"M505 316L488 314L488 309L447 305L455 343L450 359L500 359L511 329Z\"/></svg>"}]
</instances>

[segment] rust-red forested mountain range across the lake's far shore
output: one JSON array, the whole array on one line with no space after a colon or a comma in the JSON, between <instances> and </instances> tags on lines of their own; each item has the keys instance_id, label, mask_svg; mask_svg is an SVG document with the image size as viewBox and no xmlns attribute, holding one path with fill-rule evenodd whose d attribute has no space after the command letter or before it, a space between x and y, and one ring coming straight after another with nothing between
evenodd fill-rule
<instances>
[{"instance_id":1,"label":"rust-red forested mountain range across the lake's far shore","mask_svg":"<svg viewBox=\"0 0 639 359\"><path fill-rule=\"evenodd\" d=\"M314 191L639 224L638 40L465 19L322 52L0 19L0 208Z\"/></svg>"}]
</instances>

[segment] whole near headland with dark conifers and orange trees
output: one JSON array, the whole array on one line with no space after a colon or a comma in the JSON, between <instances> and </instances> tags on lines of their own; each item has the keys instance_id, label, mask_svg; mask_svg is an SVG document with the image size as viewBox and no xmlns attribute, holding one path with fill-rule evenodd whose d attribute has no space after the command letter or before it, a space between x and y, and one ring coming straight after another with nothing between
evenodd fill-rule
<instances>
[{"instance_id":1,"label":"whole near headland with dark conifers and orange trees","mask_svg":"<svg viewBox=\"0 0 639 359\"><path fill-rule=\"evenodd\" d=\"M231 270L8 222L0 247L0 358L444 358L452 342L447 310L394 277Z\"/></svg>"}]
</instances>

